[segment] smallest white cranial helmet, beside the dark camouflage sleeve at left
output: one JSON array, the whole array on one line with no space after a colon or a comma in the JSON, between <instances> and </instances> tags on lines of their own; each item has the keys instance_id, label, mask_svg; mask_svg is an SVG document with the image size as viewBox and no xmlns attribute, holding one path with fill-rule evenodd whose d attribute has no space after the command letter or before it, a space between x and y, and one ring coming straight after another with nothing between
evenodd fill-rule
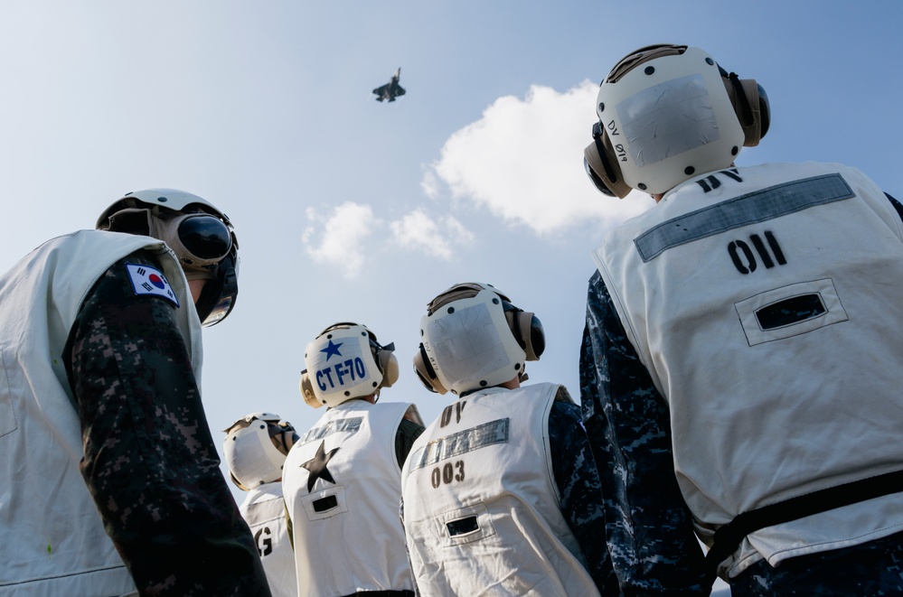
<instances>
[{"instance_id":1,"label":"smallest white cranial helmet, beside the dark camouflage sleeve at left","mask_svg":"<svg viewBox=\"0 0 903 597\"><path fill-rule=\"evenodd\" d=\"M288 451L298 440L292 424L269 413L243 416L223 431L230 477L245 491L281 479Z\"/></svg>"}]
</instances>

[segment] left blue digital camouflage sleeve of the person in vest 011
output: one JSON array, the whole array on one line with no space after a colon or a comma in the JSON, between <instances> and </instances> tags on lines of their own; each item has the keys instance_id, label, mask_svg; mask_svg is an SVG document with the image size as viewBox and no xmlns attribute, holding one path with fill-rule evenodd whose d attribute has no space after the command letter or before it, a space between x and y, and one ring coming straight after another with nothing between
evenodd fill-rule
<instances>
[{"instance_id":1,"label":"left blue digital camouflage sleeve of the person in vest 011","mask_svg":"<svg viewBox=\"0 0 903 597\"><path fill-rule=\"evenodd\" d=\"M627 340L598 272L589 280L580 399L622 592L709 594L702 550L674 476L668 406Z\"/></svg>"}]
</instances>

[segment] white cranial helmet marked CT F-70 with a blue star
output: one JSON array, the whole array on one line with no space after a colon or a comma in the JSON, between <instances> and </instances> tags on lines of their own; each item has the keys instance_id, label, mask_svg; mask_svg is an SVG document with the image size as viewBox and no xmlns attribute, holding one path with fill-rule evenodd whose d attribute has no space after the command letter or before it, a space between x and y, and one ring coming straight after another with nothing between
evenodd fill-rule
<instances>
[{"instance_id":1,"label":"white cranial helmet marked CT F-70 with a blue star","mask_svg":"<svg viewBox=\"0 0 903 597\"><path fill-rule=\"evenodd\" d=\"M394 344L382 346L359 323L329 326L305 350L301 394L309 406L338 406L390 387L399 377Z\"/></svg>"}]
</instances>

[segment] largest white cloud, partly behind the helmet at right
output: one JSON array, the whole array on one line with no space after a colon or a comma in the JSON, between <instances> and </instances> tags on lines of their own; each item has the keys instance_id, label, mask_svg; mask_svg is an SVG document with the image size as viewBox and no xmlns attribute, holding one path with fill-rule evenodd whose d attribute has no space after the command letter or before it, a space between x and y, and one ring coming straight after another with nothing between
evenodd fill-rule
<instances>
[{"instance_id":1,"label":"largest white cloud, partly behind the helmet at right","mask_svg":"<svg viewBox=\"0 0 903 597\"><path fill-rule=\"evenodd\" d=\"M534 85L524 99L505 96L483 117L448 138L421 186L437 181L451 196L473 201L539 234L585 222L608 225L640 213L651 200L639 193L618 201L587 180L583 148L591 141L597 85L584 81L565 93Z\"/></svg>"}]
</instances>

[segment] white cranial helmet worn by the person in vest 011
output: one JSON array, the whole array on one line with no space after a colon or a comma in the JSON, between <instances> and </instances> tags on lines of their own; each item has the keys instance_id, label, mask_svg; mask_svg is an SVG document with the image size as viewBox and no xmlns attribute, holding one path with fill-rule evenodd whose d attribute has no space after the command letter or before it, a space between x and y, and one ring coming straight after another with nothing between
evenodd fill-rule
<instances>
[{"instance_id":1,"label":"white cranial helmet worn by the person in vest 011","mask_svg":"<svg viewBox=\"0 0 903 597\"><path fill-rule=\"evenodd\" d=\"M597 189L664 193L727 168L768 129L765 90L699 48L655 45L628 54L602 81L584 152Z\"/></svg>"}]
</instances>

